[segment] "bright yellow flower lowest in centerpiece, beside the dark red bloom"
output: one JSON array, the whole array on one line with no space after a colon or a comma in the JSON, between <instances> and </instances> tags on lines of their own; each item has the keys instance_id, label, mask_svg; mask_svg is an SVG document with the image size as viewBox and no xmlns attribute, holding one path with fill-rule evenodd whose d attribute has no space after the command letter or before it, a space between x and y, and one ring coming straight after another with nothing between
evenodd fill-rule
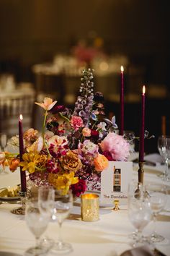
<instances>
[{"instance_id":1,"label":"bright yellow flower lowest in centerpiece, beside the dark red bloom","mask_svg":"<svg viewBox=\"0 0 170 256\"><path fill-rule=\"evenodd\" d=\"M79 182L78 177L74 176L74 172L70 174L48 174L48 182L55 187L55 189L62 190L65 195L72 184Z\"/></svg>"}]
</instances>

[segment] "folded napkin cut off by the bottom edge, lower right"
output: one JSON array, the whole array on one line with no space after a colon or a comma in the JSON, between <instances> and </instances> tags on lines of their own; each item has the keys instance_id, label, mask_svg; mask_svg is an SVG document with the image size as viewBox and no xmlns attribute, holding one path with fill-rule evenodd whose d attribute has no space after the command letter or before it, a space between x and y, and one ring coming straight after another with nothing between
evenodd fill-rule
<instances>
[{"instance_id":1,"label":"folded napkin cut off by the bottom edge, lower right","mask_svg":"<svg viewBox=\"0 0 170 256\"><path fill-rule=\"evenodd\" d=\"M122 252L120 256L153 256L153 252L147 246L136 247Z\"/></svg>"}]
</instances>

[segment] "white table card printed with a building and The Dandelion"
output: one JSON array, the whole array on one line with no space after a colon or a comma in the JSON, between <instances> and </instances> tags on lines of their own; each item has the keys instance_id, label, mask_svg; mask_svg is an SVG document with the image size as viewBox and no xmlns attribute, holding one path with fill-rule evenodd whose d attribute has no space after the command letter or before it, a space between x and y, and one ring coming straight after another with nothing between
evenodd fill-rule
<instances>
[{"instance_id":1,"label":"white table card printed with a building and The Dandelion","mask_svg":"<svg viewBox=\"0 0 170 256\"><path fill-rule=\"evenodd\" d=\"M101 202L119 205L128 204L128 184L133 179L133 162L109 161L109 166L101 174Z\"/></svg>"}]
</instances>

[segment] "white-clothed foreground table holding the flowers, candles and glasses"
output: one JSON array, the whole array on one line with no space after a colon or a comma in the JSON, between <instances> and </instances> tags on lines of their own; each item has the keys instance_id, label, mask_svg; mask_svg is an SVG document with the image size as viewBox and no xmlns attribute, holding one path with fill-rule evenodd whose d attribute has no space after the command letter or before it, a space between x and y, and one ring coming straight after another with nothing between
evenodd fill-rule
<instances>
[{"instance_id":1,"label":"white-clothed foreground table holding the flowers, candles and glasses","mask_svg":"<svg viewBox=\"0 0 170 256\"><path fill-rule=\"evenodd\" d=\"M157 174L164 166L144 166L144 181L162 182ZM138 166L133 167L133 178L138 179ZM9 172L9 171L8 171ZM19 184L19 169L14 173L0 174L0 187ZM169 183L166 182L169 186ZM169 187L170 188L170 187ZM170 191L170 189L169 189ZM33 244L35 238L27 228L24 216L17 216L11 210L18 205L16 202L0 201L0 255L24 255L24 252ZM100 205L99 221L84 222L80 216L80 202L74 202L71 215L63 222L63 240L70 242L73 252L70 256L114 256L131 249L128 235L134 231L128 219L127 205L120 205L120 210L112 210L112 205ZM166 208L158 216L156 229L166 237L156 248L164 255L170 255L170 195ZM153 222L148 224L143 234L151 234ZM42 236L58 239L58 224L50 221L47 231ZM8 254L8 253L9 254ZM52 252L48 252L52 256Z\"/></svg>"}]
</instances>

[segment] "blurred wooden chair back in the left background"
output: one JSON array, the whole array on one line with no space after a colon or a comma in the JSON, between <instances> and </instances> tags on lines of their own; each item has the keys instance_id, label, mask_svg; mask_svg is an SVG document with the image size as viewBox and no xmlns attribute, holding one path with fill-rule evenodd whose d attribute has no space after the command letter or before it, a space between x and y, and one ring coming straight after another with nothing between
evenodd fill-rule
<instances>
[{"instance_id":1,"label":"blurred wooden chair back in the left background","mask_svg":"<svg viewBox=\"0 0 170 256\"><path fill-rule=\"evenodd\" d=\"M10 95L0 97L0 132L8 137L18 134L19 115L23 116L23 131L34 127L33 108L35 95Z\"/></svg>"}]
</instances>

